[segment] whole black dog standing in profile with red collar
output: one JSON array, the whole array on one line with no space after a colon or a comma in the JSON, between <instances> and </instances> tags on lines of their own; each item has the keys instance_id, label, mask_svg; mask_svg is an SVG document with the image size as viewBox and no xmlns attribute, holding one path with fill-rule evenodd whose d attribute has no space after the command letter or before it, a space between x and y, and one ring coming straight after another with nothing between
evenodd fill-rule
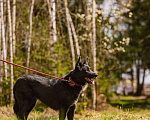
<instances>
[{"instance_id":1,"label":"whole black dog standing in profile with red collar","mask_svg":"<svg viewBox=\"0 0 150 120\"><path fill-rule=\"evenodd\" d=\"M20 77L14 86L14 112L26 120L36 103L41 100L54 110L59 110L59 119L73 120L78 97L86 83L93 83L97 74L88 66L88 58L82 63L79 57L75 69L62 77L69 82L48 79L39 75Z\"/></svg>"}]
</instances>

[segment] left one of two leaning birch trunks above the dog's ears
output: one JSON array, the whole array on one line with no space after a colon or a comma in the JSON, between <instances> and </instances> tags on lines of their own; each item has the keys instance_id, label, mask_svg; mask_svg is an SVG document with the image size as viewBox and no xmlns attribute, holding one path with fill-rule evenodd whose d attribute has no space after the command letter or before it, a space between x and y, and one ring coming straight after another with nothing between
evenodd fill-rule
<instances>
[{"instance_id":1,"label":"left one of two leaning birch trunks above the dog's ears","mask_svg":"<svg viewBox=\"0 0 150 120\"><path fill-rule=\"evenodd\" d=\"M66 20L67 20L67 28L69 33L69 41L70 41L70 47L71 47L71 54L72 54L72 64L73 68L75 67L75 52L74 52L74 46L73 46L73 40L72 40L72 33L71 33L71 27L69 23L69 10L68 10L68 4L67 0L64 0L65 10L66 10Z\"/></svg>"}]
</instances>

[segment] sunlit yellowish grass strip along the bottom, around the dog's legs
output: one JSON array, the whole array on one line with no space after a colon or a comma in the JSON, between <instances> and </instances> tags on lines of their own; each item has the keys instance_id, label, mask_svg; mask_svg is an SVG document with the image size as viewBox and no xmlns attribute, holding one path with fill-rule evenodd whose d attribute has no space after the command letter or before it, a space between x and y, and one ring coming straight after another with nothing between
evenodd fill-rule
<instances>
[{"instance_id":1,"label":"sunlit yellowish grass strip along the bottom, around the dog's legs","mask_svg":"<svg viewBox=\"0 0 150 120\"><path fill-rule=\"evenodd\" d=\"M108 110L108 111L92 111L86 110L84 114L75 115L75 120L149 120L150 119L150 111L143 110L139 112L129 112L122 110ZM44 113L39 113L37 111L33 111L29 116L29 120L58 120L58 116L48 117L48 115L44 116ZM14 115L3 114L0 115L1 120L17 120Z\"/></svg>"}]
</instances>

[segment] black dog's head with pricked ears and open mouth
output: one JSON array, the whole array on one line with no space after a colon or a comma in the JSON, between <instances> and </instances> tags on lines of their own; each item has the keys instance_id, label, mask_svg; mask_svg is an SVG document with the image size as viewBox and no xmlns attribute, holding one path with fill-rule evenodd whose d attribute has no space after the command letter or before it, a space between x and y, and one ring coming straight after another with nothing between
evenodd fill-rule
<instances>
[{"instance_id":1,"label":"black dog's head with pricked ears and open mouth","mask_svg":"<svg viewBox=\"0 0 150 120\"><path fill-rule=\"evenodd\" d=\"M83 63L81 62L81 57L79 57L72 73L73 81L79 85L85 85L86 83L94 84L97 76L88 65L88 57L86 57Z\"/></svg>"}]
</instances>

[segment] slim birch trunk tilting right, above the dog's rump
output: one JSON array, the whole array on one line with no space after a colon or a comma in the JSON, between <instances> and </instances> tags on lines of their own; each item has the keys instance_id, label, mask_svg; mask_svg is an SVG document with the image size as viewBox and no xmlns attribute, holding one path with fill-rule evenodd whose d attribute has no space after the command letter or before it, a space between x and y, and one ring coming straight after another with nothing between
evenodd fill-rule
<instances>
[{"instance_id":1,"label":"slim birch trunk tilting right, above the dog's rump","mask_svg":"<svg viewBox=\"0 0 150 120\"><path fill-rule=\"evenodd\" d=\"M29 67L29 62L30 62L31 38L32 38L32 15L33 15L33 8L34 8L34 0L32 0L31 9L30 9L30 31L29 31L29 41L28 41L27 67ZM28 70L26 70L26 73L28 73Z\"/></svg>"}]
</instances>

